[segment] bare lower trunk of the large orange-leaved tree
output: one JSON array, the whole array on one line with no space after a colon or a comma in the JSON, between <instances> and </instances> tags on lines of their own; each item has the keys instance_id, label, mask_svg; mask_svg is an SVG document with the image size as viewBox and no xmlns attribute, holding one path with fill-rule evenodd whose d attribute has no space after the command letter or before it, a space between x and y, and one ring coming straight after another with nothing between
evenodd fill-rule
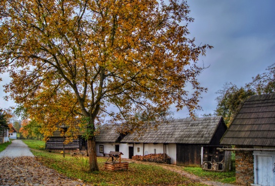
<instances>
[{"instance_id":1,"label":"bare lower trunk of the large orange-leaved tree","mask_svg":"<svg viewBox=\"0 0 275 186\"><path fill-rule=\"evenodd\" d=\"M95 137L88 139L89 170L99 171L96 159Z\"/></svg>"}]
</instances>

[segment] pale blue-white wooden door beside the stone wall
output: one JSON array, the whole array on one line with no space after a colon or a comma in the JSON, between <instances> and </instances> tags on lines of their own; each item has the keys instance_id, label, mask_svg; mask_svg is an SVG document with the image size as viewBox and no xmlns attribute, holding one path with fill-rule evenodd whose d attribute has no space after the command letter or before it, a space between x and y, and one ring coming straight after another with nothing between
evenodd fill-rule
<instances>
[{"instance_id":1,"label":"pale blue-white wooden door beside the stone wall","mask_svg":"<svg viewBox=\"0 0 275 186\"><path fill-rule=\"evenodd\" d=\"M275 152L254 151L255 185L275 186Z\"/></svg>"}]
</instances>

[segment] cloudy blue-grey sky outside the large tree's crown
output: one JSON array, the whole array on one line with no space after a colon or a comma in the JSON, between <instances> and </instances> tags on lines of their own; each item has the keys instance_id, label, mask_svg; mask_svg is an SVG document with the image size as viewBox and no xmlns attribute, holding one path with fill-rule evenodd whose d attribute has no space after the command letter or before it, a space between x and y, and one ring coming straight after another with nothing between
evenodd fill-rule
<instances>
[{"instance_id":1,"label":"cloudy blue-grey sky outside the large tree's crown","mask_svg":"<svg viewBox=\"0 0 275 186\"><path fill-rule=\"evenodd\" d=\"M203 87L199 104L203 110L198 115L213 113L216 107L215 94L225 82L244 86L257 74L275 63L275 1L273 0L190 0L190 38L196 44L213 46L200 57L205 66L210 66L198 77ZM15 106L3 100L3 85L7 75L0 75L0 108ZM172 107L172 111L175 108ZM174 113L175 118L188 116L186 109Z\"/></svg>"}]
</instances>

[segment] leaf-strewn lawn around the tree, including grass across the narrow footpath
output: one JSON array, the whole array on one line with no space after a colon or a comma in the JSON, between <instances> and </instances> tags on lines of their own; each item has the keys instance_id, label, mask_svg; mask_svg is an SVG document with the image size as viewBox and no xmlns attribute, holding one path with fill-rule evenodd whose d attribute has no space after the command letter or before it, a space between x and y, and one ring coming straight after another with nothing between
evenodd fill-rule
<instances>
[{"instance_id":1,"label":"leaf-strewn lawn around the tree, including grass across the narrow footpath","mask_svg":"<svg viewBox=\"0 0 275 186\"><path fill-rule=\"evenodd\" d=\"M99 166L98 172L89 172L87 157L72 157L66 154L63 158L61 153L50 153L44 149L45 142L37 140L23 140L31 149L36 159L49 168L56 169L71 178L81 179L92 185L177 185L177 186L205 186L200 182L192 182L189 178L183 177L176 172L164 169L157 165L129 163L128 170L109 171L104 170L103 166L106 161L105 157L97 157ZM195 175L204 172L201 168L179 167ZM200 169L200 170L199 170ZM223 182L231 178L231 174L224 172L210 172L202 177L210 180ZM222 176L222 177L221 177ZM234 174L235 176L235 174ZM228 178L229 177L229 178ZM234 181L231 181L231 183Z\"/></svg>"}]
</instances>

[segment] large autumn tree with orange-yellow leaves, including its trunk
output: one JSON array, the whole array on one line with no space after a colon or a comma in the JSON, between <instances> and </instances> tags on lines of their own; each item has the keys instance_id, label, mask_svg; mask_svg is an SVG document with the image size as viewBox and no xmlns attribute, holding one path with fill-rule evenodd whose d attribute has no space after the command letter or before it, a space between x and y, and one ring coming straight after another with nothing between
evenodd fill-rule
<instances>
[{"instance_id":1,"label":"large autumn tree with orange-yellow leaves, including its trunk","mask_svg":"<svg viewBox=\"0 0 275 186\"><path fill-rule=\"evenodd\" d=\"M81 115L98 170L100 118L143 129L153 122L135 122L135 113L159 120L172 104L191 115L199 107L198 56L211 46L187 37L188 13L176 0L1 1L0 73L13 79L6 91L48 128Z\"/></svg>"}]
</instances>

